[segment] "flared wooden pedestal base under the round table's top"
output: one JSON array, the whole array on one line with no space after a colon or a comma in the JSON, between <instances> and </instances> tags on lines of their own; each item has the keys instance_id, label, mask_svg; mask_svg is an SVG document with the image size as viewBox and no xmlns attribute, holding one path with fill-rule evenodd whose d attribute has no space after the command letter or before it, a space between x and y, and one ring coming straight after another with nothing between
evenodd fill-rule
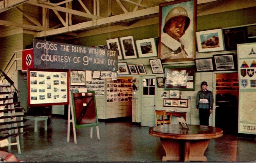
<instances>
[{"instance_id":1,"label":"flared wooden pedestal base under the round table's top","mask_svg":"<svg viewBox=\"0 0 256 163\"><path fill-rule=\"evenodd\" d=\"M179 140L160 138L166 156L162 161L207 161L204 151L210 139Z\"/></svg>"}]
</instances>

